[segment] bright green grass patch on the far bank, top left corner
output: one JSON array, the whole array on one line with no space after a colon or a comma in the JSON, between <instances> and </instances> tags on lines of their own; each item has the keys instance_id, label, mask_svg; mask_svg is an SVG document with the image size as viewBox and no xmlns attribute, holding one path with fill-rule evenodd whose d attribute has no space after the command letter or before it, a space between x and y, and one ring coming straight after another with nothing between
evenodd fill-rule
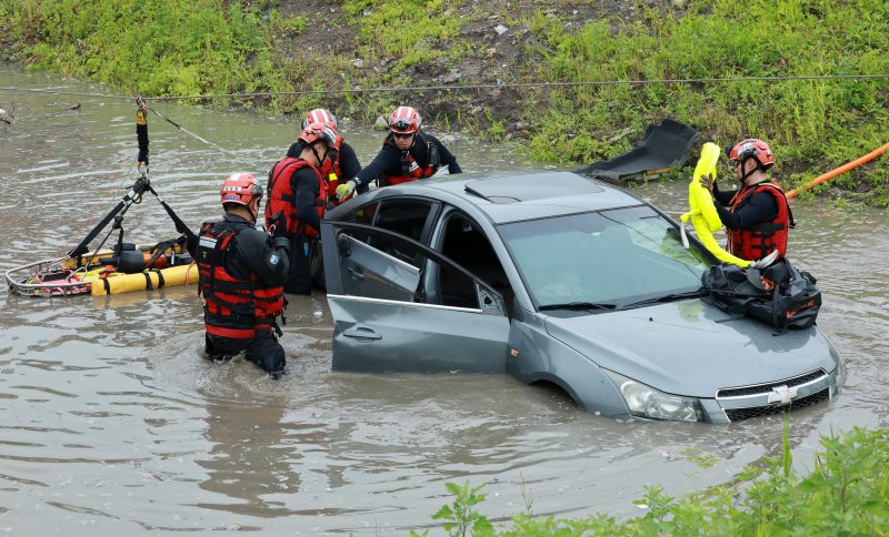
<instances>
[{"instance_id":1,"label":"bright green grass patch on the far bank, top left corner","mask_svg":"<svg viewBox=\"0 0 889 537\"><path fill-rule=\"evenodd\" d=\"M213 0L3 0L31 68L144 95L267 91L271 49L256 10Z\"/></svg>"}]
</instances>

